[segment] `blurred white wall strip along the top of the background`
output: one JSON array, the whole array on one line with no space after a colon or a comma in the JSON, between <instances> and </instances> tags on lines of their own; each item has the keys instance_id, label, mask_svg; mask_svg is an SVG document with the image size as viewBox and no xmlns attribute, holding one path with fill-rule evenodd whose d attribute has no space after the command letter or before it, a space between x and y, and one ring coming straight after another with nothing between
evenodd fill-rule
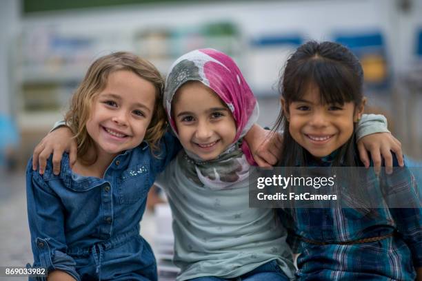
<instances>
[{"instance_id":1,"label":"blurred white wall strip along the top of the background","mask_svg":"<svg viewBox=\"0 0 422 281\"><path fill-rule=\"evenodd\" d=\"M9 0L10 1L10 0ZM23 19L23 28L54 26L83 32L121 30L132 32L153 26L197 25L231 20L246 38L265 34L299 33L308 39L330 40L332 33L381 30L388 41L394 69L402 70L414 47L414 26L422 27L422 0L412 1L410 12L401 12L395 0L247 1L128 6L75 12L39 13Z\"/></svg>"}]
</instances>

